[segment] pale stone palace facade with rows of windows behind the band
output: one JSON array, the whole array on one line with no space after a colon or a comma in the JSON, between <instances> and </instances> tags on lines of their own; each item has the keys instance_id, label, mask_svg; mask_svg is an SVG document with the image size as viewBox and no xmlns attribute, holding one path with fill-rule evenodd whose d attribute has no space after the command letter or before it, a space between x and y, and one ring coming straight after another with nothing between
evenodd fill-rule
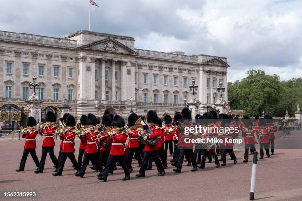
<instances>
[{"instance_id":1,"label":"pale stone palace facade with rows of windows behind the band","mask_svg":"<svg viewBox=\"0 0 302 201\"><path fill-rule=\"evenodd\" d=\"M156 42L156 41L154 41ZM219 99L219 82L226 87L226 57L185 55L136 49L128 36L78 31L61 37L0 31L0 104L26 104L34 76L43 105L62 101L75 115L105 110L127 117L131 110L145 115L174 114L189 100L192 80L204 104Z\"/></svg>"}]
</instances>

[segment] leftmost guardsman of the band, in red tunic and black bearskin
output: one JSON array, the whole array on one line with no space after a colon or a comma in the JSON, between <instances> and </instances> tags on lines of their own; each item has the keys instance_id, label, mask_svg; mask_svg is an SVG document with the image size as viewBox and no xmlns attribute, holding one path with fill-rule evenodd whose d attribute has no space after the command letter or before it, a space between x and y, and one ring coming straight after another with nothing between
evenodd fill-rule
<instances>
[{"instance_id":1,"label":"leftmost guardsman of the band, in red tunic and black bearskin","mask_svg":"<svg viewBox=\"0 0 302 201\"><path fill-rule=\"evenodd\" d=\"M36 119L34 117L29 117L27 120L27 127L33 127L36 125L37 125ZM34 160L36 167L39 167L40 162L36 155L36 139L35 139L37 134L38 134L38 130L27 131L22 134L22 138L25 139L25 145L24 145L23 155L22 155L19 169L16 170L17 172L24 171L25 162L29 153L31 154Z\"/></svg>"}]
</instances>

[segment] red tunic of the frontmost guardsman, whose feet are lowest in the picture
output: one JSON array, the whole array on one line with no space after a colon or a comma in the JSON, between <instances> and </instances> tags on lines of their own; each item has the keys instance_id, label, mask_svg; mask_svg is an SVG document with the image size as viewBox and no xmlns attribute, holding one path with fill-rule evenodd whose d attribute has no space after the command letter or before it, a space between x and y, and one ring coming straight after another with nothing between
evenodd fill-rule
<instances>
[{"instance_id":1,"label":"red tunic of the frontmost guardsman, whose feet are lowest in the picture","mask_svg":"<svg viewBox=\"0 0 302 201\"><path fill-rule=\"evenodd\" d=\"M125 154L125 143L127 141L128 135L124 132L119 132L108 138L108 141L112 142L110 145L109 154L112 156L119 156Z\"/></svg>"}]
</instances>

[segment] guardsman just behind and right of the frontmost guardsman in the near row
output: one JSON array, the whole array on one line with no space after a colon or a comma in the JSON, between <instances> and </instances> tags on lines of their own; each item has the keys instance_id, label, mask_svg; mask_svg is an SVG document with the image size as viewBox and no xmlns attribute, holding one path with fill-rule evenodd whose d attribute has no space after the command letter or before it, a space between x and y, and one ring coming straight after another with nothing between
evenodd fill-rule
<instances>
[{"instance_id":1,"label":"guardsman just behind and right of the frontmost guardsman in the near row","mask_svg":"<svg viewBox=\"0 0 302 201\"><path fill-rule=\"evenodd\" d=\"M133 127L137 119L138 119L138 116L135 113L130 114L128 117L129 130L127 131L127 133L129 135L129 138L128 138L129 141L127 144L127 149L129 149L129 153L126 156L126 159L128 160L129 164L131 164L133 154L135 153L136 159L139 164L138 167L141 167L142 166L142 157L141 157L140 150L139 150L139 147L140 147L140 143L138 140L139 135L138 135L137 128ZM132 166L128 167L128 168L131 169Z\"/></svg>"}]
</instances>

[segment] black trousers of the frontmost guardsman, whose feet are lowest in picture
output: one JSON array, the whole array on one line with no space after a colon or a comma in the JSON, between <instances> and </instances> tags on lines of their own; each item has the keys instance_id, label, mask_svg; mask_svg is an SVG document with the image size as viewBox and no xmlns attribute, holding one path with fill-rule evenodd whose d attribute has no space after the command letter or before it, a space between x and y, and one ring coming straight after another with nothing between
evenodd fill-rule
<instances>
[{"instance_id":1,"label":"black trousers of the frontmost guardsman, whose feet are lowest in picture","mask_svg":"<svg viewBox=\"0 0 302 201\"><path fill-rule=\"evenodd\" d=\"M116 162L119 162L120 166L123 168L125 176L130 176L128 167L126 165L125 155L118 155L118 156L109 155L109 157L107 159L106 167L104 168L104 170L101 173L102 176L107 178L109 171L113 172L113 168L114 168Z\"/></svg>"}]
</instances>

